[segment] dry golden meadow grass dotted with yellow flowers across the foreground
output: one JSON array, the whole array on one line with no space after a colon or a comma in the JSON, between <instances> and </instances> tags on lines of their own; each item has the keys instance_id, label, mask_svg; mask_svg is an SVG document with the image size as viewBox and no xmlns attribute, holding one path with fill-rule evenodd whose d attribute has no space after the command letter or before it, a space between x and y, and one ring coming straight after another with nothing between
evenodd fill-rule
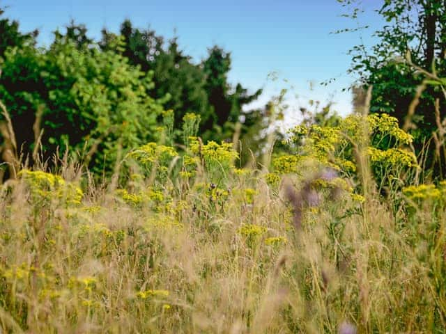
<instances>
[{"instance_id":1,"label":"dry golden meadow grass dotted with yellow flowers across the foreground","mask_svg":"<svg viewBox=\"0 0 446 334\"><path fill-rule=\"evenodd\" d=\"M6 333L444 332L440 186L386 201L306 168L117 190L68 165L3 184Z\"/></svg>"}]
</instances>

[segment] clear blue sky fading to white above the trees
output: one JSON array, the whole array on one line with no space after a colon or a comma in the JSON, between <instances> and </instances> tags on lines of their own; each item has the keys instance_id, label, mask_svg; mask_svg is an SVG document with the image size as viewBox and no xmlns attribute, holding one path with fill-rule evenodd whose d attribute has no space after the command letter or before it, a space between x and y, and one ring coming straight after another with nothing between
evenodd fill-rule
<instances>
[{"instance_id":1,"label":"clear blue sky fading to white above the trees","mask_svg":"<svg viewBox=\"0 0 446 334\"><path fill-rule=\"evenodd\" d=\"M125 18L167 38L176 31L180 47L197 61L206 56L208 47L220 45L231 51L233 83L252 90L264 88L257 105L281 88L290 90L290 121L309 99L331 99L339 113L351 111L350 93L341 92L353 82L346 74L350 64L346 52L361 38L366 44L373 42L370 35L381 24L374 13L380 2L362 1L365 12L360 23L372 29L333 35L330 32L356 26L341 17L345 9L337 0L0 0L2 6L9 6L6 15L18 19L23 31L40 30L43 45L51 42L52 31L63 29L70 19L86 24L89 35L98 38L102 27L118 31ZM279 79L267 80L271 72ZM330 78L337 80L319 85Z\"/></svg>"}]
</instances>

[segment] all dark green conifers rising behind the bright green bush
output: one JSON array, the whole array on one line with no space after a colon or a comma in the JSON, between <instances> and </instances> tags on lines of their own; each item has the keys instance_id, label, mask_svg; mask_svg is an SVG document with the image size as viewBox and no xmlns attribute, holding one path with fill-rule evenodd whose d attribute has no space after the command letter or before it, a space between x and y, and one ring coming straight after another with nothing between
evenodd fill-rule
<instances>
[{"instance_id":1,"label":"all dark green conifers rising behind the bright green bush","mask_svg":"<svg viewBox=\"0 0 446 334\"><path fill-rule=\"evenodd\" d=\"M261 93L257 90L250 95L241 84L229 84L231 54L220 47L210 48L207 58L196 64L180 50L177 38L165 43L155 31L134 28L129 20L121 24L120 33L124 41L121 49L114 47L118 37L109 31L103 31L101 47L119 51L145 72L153 71L155 89L150 94L162 100L165 109L174 111L176 129L187 113L195 113L201 118L205 141L231 138L243 106Z\"/></svg>"}]
</instances>

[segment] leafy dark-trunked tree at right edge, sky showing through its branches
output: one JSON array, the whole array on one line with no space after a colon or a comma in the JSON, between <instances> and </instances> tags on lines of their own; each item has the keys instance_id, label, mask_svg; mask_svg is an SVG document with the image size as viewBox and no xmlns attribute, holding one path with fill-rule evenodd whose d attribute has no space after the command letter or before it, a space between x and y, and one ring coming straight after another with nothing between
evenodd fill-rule
<instances>
[{"instance_id":1,"label":"leafy dark-trunked tree at right edge, sky showing through its branches","mask_svg":"<svg viewBox=\"0 0 446 334\"><path fill-rule=\"evenodd\" d=\"M432 79L427 75L429 72L434 77L446 77L446 6L443 0L395 0L380 1L380 4L378 13L386 24L375 32L378 43L370 51L365 45L353 47L350 72L358 75L360 85L373 86L370 111L388 113L396 117L400 125L406 121L410 104L417 98L410 134L419 153L433 133L438 132L438 118L446 115L446 99L440 81L434 80L436 84L421 90L419 97L416 93L423 81L429 84L425 81ZM407 56L409 59L405 61ZM438 116L435 112L437 99ZM432 168L433 177L441 177L444 161L443 153L438 157L431 150L426 157L426 170Z\"/></svg>"}]
</instances>

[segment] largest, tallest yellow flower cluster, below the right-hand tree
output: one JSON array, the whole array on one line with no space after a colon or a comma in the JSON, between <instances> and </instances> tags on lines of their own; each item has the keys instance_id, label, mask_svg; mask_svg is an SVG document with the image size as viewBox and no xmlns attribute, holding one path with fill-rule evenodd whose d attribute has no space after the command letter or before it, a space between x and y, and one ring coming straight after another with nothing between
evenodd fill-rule
<instances>
[{"instance_id":1,"label":"largest, tallest yellow flower cluster, below the right-hand tree","mask_svg":"<svg viewBox=\"0 0 446 334\"><path fill-rule=\"evenodd\" d=\"M290 148L300 157L273 161L277 174L282 170L296 170L310 159L353 176L357 169L355 148L361 145L367 145L378 182L391 182L388 175L401 175L403 170L418 168L415 154L403 149L403 145L412 143L412 136L399 128L396 118L384 113L367 117L351 115L341 120L337 127L299 125L290 133Z\"/></svg>"}]
</instances>

